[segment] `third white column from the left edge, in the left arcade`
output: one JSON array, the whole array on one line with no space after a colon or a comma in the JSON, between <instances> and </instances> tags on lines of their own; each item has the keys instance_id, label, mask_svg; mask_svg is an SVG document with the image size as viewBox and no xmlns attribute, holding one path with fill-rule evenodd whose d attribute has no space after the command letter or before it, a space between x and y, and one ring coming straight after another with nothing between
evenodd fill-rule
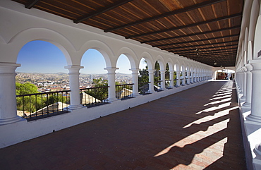
<instances>
[{"instance_id":1,"label":"third white column from the left edge, in the left arcade","mask_svg":"<svg viewBox=\"0 0 261 170\"><path fill-rule=\"evenodd\" d=\"M109 94L108 94L108 101L109 102L114 102L117 100L116 98L116 87L115 87L115 71L119 69L116 67L109 67L109 68L104 68L104 70L107 70L108 73L108 85L109 85Z\"/></svg>"}]
</instances>

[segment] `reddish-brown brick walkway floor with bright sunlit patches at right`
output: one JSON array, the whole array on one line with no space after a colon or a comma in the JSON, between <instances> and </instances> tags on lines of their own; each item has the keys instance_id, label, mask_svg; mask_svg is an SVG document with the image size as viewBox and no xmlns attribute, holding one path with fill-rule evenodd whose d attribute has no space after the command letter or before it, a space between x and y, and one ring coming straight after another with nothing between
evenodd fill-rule
<instances>
[{"instance_id":1,"label":"reddish-brown brick walkway floor with bright sunlit patches at right","mask_svg":"<svg viewBox=\"0 0 261 170\"><path fill-rule=\"evenodd\" d=\"M232 81L0 150L1 169L246 169Z\"/></svg>"}]
</instances>

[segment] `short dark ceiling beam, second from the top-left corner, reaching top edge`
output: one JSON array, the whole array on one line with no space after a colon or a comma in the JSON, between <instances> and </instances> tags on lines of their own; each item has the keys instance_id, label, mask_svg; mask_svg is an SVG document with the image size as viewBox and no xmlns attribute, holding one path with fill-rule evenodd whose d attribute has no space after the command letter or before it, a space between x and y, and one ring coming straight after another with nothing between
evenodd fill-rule
<instances>
[{"instance_id":1,"label":"short dark ceiling beam, second from the top-left corner, reaching top edge","mask_svg":"<svg viewBox=\"0 0 261 170\"><path fill-rule=\"evenodd\" d=\"M114 4L111 4L111 5L109 5L109 6L104 6L104 8L101 8L101 9L99 9L99 10L97 10L97 11L93 11L92 13L89 13L89 14L87 14L86 16L83 16L83 17L80 17L80 18L78 18L78 19L76 19L76 20L73 20L73 23L80 23L80 22L83 22L83 20L87 20L87 19L89 19L89 18L92 18L92 17L94 17L94 16L97 16L97 15L99 15L99 14L101 14L101 13L104 13L104 12L106 12L106 11L109 11L109 10L111 10L111 9L113 9L113 8L116 8L116 7L118 7L118 6L121 6L121 5L123 5L123 4L126 4L126 3L128 3L128 2L130 2L130 1L133 1L133 0L120 0L120 1L117 1L116 3L114 3Z\"/></svg>"}]
</instances>

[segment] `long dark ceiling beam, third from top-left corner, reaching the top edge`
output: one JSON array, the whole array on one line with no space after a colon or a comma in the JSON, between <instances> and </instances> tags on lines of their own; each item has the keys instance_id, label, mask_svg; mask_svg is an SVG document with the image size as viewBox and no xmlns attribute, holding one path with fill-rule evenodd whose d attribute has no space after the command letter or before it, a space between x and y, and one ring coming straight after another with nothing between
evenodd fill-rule
<instances>
[{"instance_id":1,"label":"long dark ceiling beam, third from top-left corner, reaching the top edge","mask_svg":"<svg viewBox=\"0 0 261 170\"><path fill-rule=\"evenodd\" d=\"M186 11L191 11L191 10L194 10L194 9L202 8L204 6L210 6L212 4L217 4L217 3L221 2L221 1L226 1L226 0L209 0L209 1L204 1L202 3L195 4L193 6L188 6L186 8L181 8L181 9L178 9L178 10L175 10L175 11L171 11L171 12L168 12L168 13L163 13L163 14L161 14L159 16L153 16L153 17L150 17L150 18L145 18L143 20L135 21L133 23L120 25L120 26L115 27L115 28L109 28L107 30L104 30L104 32L111 32L111 31L114 31L114 30L119 30L119 29L130 27L130 26L133 26L133 25L138 25L140 23L146 23L146 22L149 22L151 20L158 20L160 18L164 18L164 17L167 17L167 16L173 16L173 15L176 15L178 13L185 13Z\"/></svg>"}]
</instances>

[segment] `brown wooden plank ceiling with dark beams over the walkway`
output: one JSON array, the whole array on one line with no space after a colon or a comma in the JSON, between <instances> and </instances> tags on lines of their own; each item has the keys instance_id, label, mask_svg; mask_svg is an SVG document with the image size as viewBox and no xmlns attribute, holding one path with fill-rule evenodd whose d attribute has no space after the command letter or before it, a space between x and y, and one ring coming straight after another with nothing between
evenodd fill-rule
<instances>
[{"instance_id":1,"label":"brown wooden plank ceiling with dark beams over the walkway","mask_svg":"<svg viewBox=\"0 0 261 170\"><path fill-rule=\"evenodd\" d=\"M243 0L13 1L210 66L235 66Z\"/></svg>"}]
</instances>

